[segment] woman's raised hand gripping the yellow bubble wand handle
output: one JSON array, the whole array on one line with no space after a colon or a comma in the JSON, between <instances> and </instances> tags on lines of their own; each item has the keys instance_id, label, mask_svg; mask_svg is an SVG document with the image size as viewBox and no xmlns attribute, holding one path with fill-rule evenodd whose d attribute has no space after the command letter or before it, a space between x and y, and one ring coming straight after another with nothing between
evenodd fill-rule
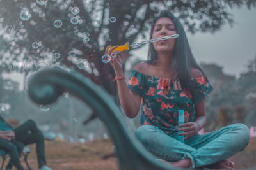
<instances>
[{"instance_id":1,"label":"woman's raised hand gripping the yellow bubble wand handle","mask_svg":"<svg viewBox=\"0 0 256 170\"><path fill-rule=\"evenodd\" d=\"M111 53L113 53L113 50L115 48L117 48L117 46L113 46L111 48L109 48L111 46L108 46L105 50L105 54L108 54L109 56L111 56ZM108 50L109 48L109 50ZM120 56L121 56L121 52L118 52L118 51L115 51L116 53L116 57L111 57L111 60L110 60L110 64L111 66L113 67L113 69L115 70L115 73L122 73L123 71L123 67L122 67L122 60L120 59Z\"/></svg>"}]
</instances>

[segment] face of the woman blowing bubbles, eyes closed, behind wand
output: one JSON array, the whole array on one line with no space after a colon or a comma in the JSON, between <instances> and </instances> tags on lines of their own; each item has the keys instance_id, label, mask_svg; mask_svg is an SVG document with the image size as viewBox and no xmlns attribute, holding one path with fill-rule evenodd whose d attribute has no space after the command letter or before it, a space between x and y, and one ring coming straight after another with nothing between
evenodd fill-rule
<instances>
[{"instance_id":1,"label":"face of the woman blowing bubbles, eyes closed, behind wand","mask_svg":"<svg viewBox=\"0 0 256 170\"><path fill-rule=\"evenodd\" d=\"M154 25L152 38L161 38L172 34L176 34L172 19L168 17L159 18ZM172 52L175 46L175 38L154 42L153 46L157 52Z\"/></svg>"}]
</instances>

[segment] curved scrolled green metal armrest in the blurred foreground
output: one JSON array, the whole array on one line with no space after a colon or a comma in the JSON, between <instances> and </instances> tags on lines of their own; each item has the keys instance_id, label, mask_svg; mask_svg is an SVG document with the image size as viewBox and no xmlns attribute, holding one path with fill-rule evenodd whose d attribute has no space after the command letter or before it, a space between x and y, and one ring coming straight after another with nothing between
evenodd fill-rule
<instances>
[{"instance_id":1,"label":"curved scrolled green metal armrest in the blurred foreground","mask_svg":"<svg viewBox=\"0 0 256 170\"><path fill-rule=\"evenodd\" d=\"M116 146L120 169L178 169L156 161L129 128L125 117L108 92L76 71L60 67L45 69L31 76L28 94L37 104L54 103L68 92L88 104L106 124Z\"/></svg>"}]
</instances>

